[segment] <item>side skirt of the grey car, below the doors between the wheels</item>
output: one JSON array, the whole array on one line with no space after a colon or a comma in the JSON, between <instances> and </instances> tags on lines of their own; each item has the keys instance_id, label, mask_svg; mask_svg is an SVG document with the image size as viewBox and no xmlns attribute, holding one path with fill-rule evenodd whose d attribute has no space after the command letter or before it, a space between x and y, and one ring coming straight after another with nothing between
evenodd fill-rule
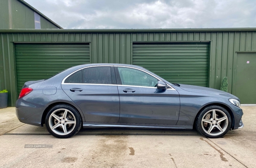
<instances>
[{"instance_id":1,"label":"side skirt of the grey car, below the doors between the wheels","mask_svg":"<svg viewBox=\"0 0 256 168\"><path fill-rule=\"evenodd\" d=\"M122 127L122 128L148 128L148 129L193 129L193 126L186 125L163 125L163 124L138 124L138 123L96 123L83 122L84 128L104 128L104 127Z\"/></svg>"}]
</instances>

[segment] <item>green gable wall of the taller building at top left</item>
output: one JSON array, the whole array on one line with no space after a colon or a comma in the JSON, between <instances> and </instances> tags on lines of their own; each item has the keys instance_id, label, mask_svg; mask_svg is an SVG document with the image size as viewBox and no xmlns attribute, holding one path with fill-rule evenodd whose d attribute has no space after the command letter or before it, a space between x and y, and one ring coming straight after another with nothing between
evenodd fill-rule
<instances>
[{"instance_id":1,"label":"green gable wall of the taller building at top left","mask_svg":"<svg viewBox=\"0 0 256 168\"><path fill-rule=\"evenodd\" d=\"M58 28L40 16L41 28ZM34 11L18 0L0 0L0 29L34 29Z\"/></svg>"}]
</instances>

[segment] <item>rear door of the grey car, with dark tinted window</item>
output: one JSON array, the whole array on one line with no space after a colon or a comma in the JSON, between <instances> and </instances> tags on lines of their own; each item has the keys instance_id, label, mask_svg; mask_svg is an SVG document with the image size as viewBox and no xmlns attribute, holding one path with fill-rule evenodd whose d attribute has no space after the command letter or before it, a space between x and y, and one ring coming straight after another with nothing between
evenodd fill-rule
<instances>
[{"instance_id":1,"label":"rear door of the grey car, with dark tinted window","mask_svg":"<svg viewBox=\"0 0 256 168\"><path fill-rule=\"evenodd\" d=\"M86 122L119 121L119 94L113 66L86 67L68 76L61 87L82 110Z\"/></svg>"}]
</instances>

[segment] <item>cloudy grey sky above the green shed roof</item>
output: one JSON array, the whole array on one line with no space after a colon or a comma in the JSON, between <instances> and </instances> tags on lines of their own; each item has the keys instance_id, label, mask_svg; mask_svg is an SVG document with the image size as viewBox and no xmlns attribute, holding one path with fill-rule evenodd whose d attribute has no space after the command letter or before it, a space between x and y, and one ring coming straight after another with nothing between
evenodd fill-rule
<instances>
[{"instance_id":1,"label":"cloudy grey sky above the green shed roof","mask_svg":"<svg viewBox=\"0 0 256 168\"><path fill-rule=\"evenodd\" d=\"M256 0L25 0L63 28L256 27Z\"/></svg>"}]
</instances>

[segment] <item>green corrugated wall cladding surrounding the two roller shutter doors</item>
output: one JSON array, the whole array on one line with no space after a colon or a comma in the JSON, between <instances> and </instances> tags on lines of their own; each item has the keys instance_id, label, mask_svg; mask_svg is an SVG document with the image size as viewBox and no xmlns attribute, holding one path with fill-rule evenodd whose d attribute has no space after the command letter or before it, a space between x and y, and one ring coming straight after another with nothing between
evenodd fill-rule
<instances>
[{"instance_id":1,"label":"green corrugated wall cladding surrounding the two roller shutter doors","mask_svg":"<svg viewBox=\"0 0 256 168\"><path fill-rule=\"evenodd\" d=\"M220 89L228 77L228 92L233 93L236 52L256 52L256 29L218 30L0 30L0 89L9 90L9 106L17 100L15 42L90 43L91 63L132 64L133 44L138 42L209 43L209 87ZM41 33L40 33L41 31ZM1 33L2 32L2 33ZM203 43L201 43L203 42ZM204 70L205 72L205 70Z\"/></svg>"}]
</instances>

